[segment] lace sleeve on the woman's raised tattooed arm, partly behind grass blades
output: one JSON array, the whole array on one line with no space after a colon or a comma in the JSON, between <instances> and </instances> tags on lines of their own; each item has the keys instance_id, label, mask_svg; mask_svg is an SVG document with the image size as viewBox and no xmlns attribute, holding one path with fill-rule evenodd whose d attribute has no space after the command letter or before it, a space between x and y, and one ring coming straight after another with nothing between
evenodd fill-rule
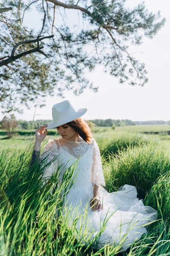
<instances>
[{"instance_id":1,"label":"lace sleeve on the woman's raised tattooed arm, partly behind grass blades","mask_svg":"<svg viewBox=\"0 0 170 256\"><path fill-rule=\"evenodd\" d=\"M45 145L42 154L40 155L40 164L45 166L42 178L44 180L43 185L51 178L55 170L58 167L58 149L53 140L49 140ZM51 163L52 161L52 163Z\"/></svg>"}]
</instances>

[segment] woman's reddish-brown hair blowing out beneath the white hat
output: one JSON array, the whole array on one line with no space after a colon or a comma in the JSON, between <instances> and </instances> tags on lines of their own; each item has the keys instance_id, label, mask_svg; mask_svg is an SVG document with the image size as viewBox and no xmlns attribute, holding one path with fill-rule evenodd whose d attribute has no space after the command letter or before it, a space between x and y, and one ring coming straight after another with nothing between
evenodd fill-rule
<instances>
[{"instance_id":1,"label":"woman's reddish-brown hair blowing out beneath the white hat","mask_svg":"<svg viewBox=\"0 0 170 256\"><path fill-rule=\"evenodd\" d=\"M71 122L68 122L67 124L72 128L74 128L74 130L77 131L79 136L82 137L82 139L85 142L87 143L92 142L92 139L94 138L94 132L92 131L91 128L95 126L93 122L86 121L81 117L79 117Z\"/></svg>"}]
</instances>

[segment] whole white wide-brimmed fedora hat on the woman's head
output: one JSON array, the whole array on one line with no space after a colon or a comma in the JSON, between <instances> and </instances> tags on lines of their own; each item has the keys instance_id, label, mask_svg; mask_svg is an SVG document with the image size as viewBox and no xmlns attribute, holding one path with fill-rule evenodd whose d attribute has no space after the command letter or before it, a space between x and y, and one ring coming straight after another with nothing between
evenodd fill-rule
<instances>
[{"instance_id":1,"label":"whole white wide-brimmed fedora hat on the woman's head","mask_svg":"<svg viewBox=\"0 0 170 256\"><path fill-rule=\"evenodd\" d=\"M64 125L68 122L77 119L78 117L84 115L87 108L81 108L76 110L69 100L57 103L52 108L53 121L48 124L46 129L56 128L59 125Z\"/></svg>"}]
</instances>

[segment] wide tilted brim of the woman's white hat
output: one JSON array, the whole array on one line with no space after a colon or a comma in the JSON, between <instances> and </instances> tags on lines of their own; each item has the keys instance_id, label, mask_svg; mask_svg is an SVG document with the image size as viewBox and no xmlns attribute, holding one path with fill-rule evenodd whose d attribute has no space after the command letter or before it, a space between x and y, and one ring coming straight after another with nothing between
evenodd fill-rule
<instances>
[{"instance_id":1,"label":"wide tilted brim of the woman's white hat","mask_svg":"<svg viewBox=\"0 0 170 256\"><path fill-rule=\"evenodd\" d=\"M68 117L67 119L59 121L59 122L52 121L48 124L48 126L45 129L52 129L52 128L56 128L59 125L64 125L68 122L71 122L71 121L79 118L80 116L84 115L86 112L87 112L87 108L78 109L78 111L75 113L74 116L71 116L70 118Z\"/></svg>"}]
</instances>

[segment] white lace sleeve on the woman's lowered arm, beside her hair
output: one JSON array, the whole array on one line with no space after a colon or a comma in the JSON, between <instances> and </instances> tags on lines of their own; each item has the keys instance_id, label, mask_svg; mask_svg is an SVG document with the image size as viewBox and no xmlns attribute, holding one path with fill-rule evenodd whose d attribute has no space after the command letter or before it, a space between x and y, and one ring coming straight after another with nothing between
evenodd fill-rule
<instances>
[{"instance_id":1,"label":"white lace sleeve on the woman's lowered arm, beside her hair","mask_svg":"<svg viewBox=\"0 0 170 256\"><path fill-rule=\"evenodd\" d=\"M101 157L100 157L100 150L99 146L97 145L96 141L93 142L93 164L92 164L92 185L96 184L97 186L102 185L105 186L105 179L103 175Z\"/></svg>"}]
</instances>

